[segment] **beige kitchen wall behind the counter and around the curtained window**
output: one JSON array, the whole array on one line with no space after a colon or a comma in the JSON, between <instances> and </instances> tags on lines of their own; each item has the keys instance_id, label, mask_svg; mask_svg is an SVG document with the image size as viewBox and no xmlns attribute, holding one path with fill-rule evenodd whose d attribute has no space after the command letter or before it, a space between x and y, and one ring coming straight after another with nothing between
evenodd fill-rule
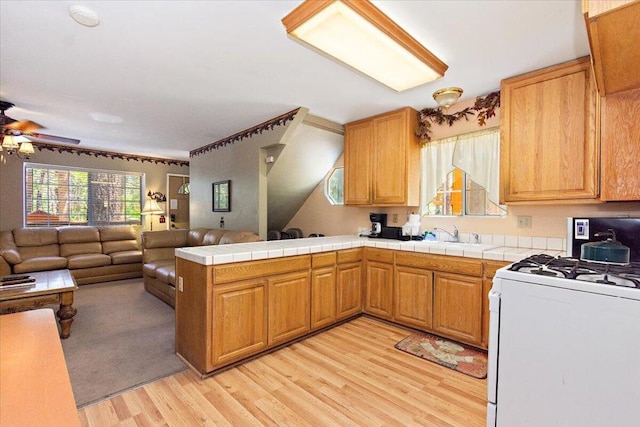
<instances>
[{"instance_id":1,"label":"beige kitchen wall behind the counter and around the curtained window","mask_svg":"<svg viewBox=\"0 0 640 427\"><path fill-rule=\"evenodd\" d=\"M456 104L450 113L473 105L473 101ZM449 127L433 125L433 138L437 140L453 135L461 135L487 127L499 126L499 111L490 119L485 127L479 127L474 117L464 119ZM342 166L340 158L336 166ZM417 179L417 178L416 178ZM294 216L287 228L297 227L305 235L323 233L325 235L355 234L358 227L368 227L369 212L386 212L389 226L401 226L407 220L407 213L416 208L357 208L349 206L332 206L324 197L323 183L313 191L302 208ZM393 214L398 214L398 222L393 223ZM517 216L532 217L531 228L517 227ZM598 203L592 205L520 205L509 206L505 217L434 217L422 218L421 231L442 227L448 230L455 225L461 233L504 234L541 237L565 237L566 217L568 216L617 216L629 215L640 217L640 202Z\"/></svg>"}]
</instances>

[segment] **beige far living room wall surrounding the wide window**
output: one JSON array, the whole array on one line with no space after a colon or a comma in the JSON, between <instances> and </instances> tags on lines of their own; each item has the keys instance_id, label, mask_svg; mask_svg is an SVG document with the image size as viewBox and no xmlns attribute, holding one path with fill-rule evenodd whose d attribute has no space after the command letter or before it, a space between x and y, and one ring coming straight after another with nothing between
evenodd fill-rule
<instances>
[{"instance_id":1,"label":"beige far living room wall surrounding the wide window","mask_svg":"<svg viewBox=\"0 0 640 427\"><path fill-rule=\"evenodd\" d=\"M166 194L167 173L189 174L189 168L186 166L167 166L150 162L127 161L84 154L57 153L47 150L36 150L32 159L26 161L45 165L142 172L145 174L145 194L148 191L160 191ZM24 162L18 159L15 154L9 156L6 152L0 153L0 230L10 230L23 225L24 199L22 187ZM163 203L160 206L166 208L164 205ZM160 224L158 215L153 215L153 220L154 230L166 229L169 223L167 221L165 224ZM142 224L143 228L149 229L151 225L150 219L143 217Z\"/></svg>"}]
</instances>

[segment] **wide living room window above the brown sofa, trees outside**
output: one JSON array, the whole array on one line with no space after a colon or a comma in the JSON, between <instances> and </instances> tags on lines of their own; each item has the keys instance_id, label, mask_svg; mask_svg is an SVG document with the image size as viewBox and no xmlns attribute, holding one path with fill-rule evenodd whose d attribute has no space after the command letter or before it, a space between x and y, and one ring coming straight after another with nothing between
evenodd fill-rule
<instances>
[{"instance_id":1,"label":"wide living room window above the brown sofa, trees outside","mask_svg":"<svg viewBox=\"0 0 640 427\"><path fill-rule=\"evenodd\" d=\"M144 174L26 163L26 227L140 224Z\"/></svg>"}]
</instances>

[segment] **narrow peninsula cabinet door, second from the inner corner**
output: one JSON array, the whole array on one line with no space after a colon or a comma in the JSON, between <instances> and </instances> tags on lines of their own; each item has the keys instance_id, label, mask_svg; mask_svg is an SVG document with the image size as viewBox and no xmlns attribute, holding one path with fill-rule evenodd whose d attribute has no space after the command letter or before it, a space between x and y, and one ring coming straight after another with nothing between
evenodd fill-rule
<instances>
[{"instance_id":1,"label":"narrow peninsula cabinet door, second from the inner corner","mask_svg":"<svg viewBox=\"0 0 640 427\"><path fill-rule=\"evenodd\" d=\"M311 329L336 320L336 268L322 267L311 273Z\"/></svg>"}]
</instances>

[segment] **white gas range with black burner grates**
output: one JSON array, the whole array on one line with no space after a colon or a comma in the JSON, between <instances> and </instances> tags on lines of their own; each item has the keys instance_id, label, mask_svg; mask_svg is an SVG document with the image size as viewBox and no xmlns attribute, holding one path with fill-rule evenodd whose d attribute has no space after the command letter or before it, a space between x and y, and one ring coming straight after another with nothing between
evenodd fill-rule
<instances>
[{"instance_id":1,"label":"white gas range with black burner grates","mask_svg":"<svg viewBox=\"0 0 640 427\"><path fill-rule=\"evenodd\" d=\"M640 262L569 255L495 275L487 426L640 425Z\"/></svg>"}]
</instances>

